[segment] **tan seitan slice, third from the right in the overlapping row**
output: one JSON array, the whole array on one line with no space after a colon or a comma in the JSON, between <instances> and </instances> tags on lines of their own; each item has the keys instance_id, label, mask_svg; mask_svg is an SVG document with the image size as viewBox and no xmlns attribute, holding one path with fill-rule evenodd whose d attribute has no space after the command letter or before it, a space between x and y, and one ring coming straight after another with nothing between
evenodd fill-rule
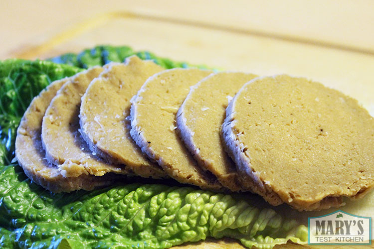
<instances>
[{"instance_id":1,"label":"tan seitan slice, third from the right in the overlapping row","mask_svg":"<svg viewBox=\"0 0 374 249\"><path fill-rule=\"evenodd\" d=\"M210 73L176 68L150 77L132 100L130 133L172 178L217 190L221 188L217 179L197 165L176 130L176 114L189 88Z\"/></svg>"}]
</instances>

